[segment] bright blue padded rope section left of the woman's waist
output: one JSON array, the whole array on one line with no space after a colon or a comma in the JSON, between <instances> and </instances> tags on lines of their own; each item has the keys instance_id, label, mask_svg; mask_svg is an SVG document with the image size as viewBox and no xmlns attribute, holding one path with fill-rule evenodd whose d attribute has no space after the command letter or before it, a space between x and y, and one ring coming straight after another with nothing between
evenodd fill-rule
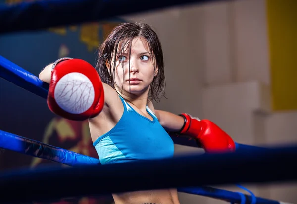
<instances>
[{"instance_id":1,"label":"bright blue padded rope section left of the woman's waist","mask_svg":"<svg viewBox=\"0 0 297 204\"><path fill-rule=\"evenodd\" d=\"M71 152L0 130L0 148L69 166L100 164L99 159Z\"/></svg>"}]
</instances>

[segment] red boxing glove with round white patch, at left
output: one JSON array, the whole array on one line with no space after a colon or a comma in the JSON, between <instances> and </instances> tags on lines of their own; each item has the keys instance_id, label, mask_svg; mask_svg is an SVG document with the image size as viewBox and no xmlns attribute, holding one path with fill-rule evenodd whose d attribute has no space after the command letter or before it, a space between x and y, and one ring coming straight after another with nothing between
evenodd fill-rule
<instances>
[{"instance_id":1,"label":"red boxing glove with round white patch, at left","mask_svg":"<svg viewBox=\"0 0 297 204\"><path fill-rule=\"evenodd\" d=\"M54 64L47 103L49 109L69 120L97 116L104 106L103 84L95 68L81 59Z\"/></svg>"}]
</instances>

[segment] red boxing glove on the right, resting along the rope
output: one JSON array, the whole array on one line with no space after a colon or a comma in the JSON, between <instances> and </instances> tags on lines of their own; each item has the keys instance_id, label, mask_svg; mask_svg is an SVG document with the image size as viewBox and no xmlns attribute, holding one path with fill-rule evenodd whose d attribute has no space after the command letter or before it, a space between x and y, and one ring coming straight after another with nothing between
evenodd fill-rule
<instances>
[{"instance_id":1,"label":"red boxing glove on the right, resting along the rope","mask_svg":"<svg viewBox=\"0 0 297 204\"><path fill-rule=\"evenodd\" d=\"M193 118L182 113L185 124L180 133L194 137L208 153L234 152L235 143L221 128L209 120Z\"/></svg>"}]
</instances>

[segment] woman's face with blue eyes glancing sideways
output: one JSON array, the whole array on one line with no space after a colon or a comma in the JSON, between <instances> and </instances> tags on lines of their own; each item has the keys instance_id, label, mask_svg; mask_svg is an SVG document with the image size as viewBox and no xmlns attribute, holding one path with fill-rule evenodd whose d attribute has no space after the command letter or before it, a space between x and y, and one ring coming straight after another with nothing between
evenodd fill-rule
<instances>
[{"instance_id":1,"label":"woman's face with blue eyes glancing sideways","mask_svg":"<svg viewBox=\"0 0 297 204\"><path fill-rule=\"evenodd\" d=\"M130 56L129 49L126 47L124 49L119 47L117 56L115 56L115 88L118 92L124 91L124 94L141 96L144 93L148 94L150 84L157 75L158 69L154 67L154 55L149 52L145 39L137 37L131 43ZM112 69L113 65L110 68Z\"/></svg>"}]
</instances>

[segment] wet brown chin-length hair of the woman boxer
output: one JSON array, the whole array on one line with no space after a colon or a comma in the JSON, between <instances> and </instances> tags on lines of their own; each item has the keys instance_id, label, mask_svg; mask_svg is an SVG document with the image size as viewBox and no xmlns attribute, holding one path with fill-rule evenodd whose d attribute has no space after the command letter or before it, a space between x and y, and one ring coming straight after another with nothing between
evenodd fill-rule
<instances>
[{"instance_id":1,"label":"wet brown chin-length hair of the woman boxer","mask_svg":"<svg viewBox=\"0 0 297 204\"><path fill-rule=\"evenodd\" d=\"M155 100L158 102L160 97L165 96L164 89L166 83L163 51L157 34L148 24L141 22L127 22L116 26L108 35L106 40L99 46L98 59L95 68L99 73L102 82L114 88L114 70L117 59L117 50L119 47L121 47L121 52L124 52L123 49L128 48L130 59L131 42L136 37L142 37L148 42L149 52L154 56L152 57L154 69L158 67L158 74L154 77L148 94L149 100ZM112 58L114 60L113 63L111 63ZM113 65L113 69L110 68L110 73L106 66L106 62L109 62L110 65Z\"/></svg>"}]
</instances>

